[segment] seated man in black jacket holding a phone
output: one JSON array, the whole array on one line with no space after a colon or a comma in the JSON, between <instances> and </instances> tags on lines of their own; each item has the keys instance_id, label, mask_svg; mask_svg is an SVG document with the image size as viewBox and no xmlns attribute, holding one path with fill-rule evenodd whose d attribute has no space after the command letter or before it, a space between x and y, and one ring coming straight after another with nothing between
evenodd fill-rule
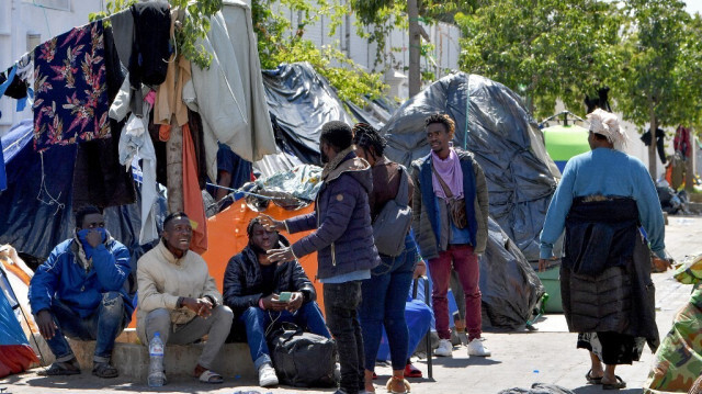
<instances>
[{"instance_id":1,"label":"seated man in black jacket holding a phone","mask_svg":"<svg viewBox=\"0 0 702 394\"><path fill-rule=\"evenodd\" d=\"M224 303L235 313L235 329L244 327L259 385L278 384L265 342L272 322L293 322L313 334L331 338L319 306L317 293L296 260L273 263L268 251L290 246L278 232L263 228L260 218L249 222L249 245L234 256L224 273ZM279 295L290 292L290 301Z\"/></svg>"}]
</instances>

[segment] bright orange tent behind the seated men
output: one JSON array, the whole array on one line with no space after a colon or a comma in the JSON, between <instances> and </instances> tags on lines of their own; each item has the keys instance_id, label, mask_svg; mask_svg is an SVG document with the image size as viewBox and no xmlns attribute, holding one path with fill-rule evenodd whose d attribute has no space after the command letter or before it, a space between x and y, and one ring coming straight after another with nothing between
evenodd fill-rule
<instances>
[{"instance_id":1,"label":"bright orange tent behind the seated men","mask_svg":"<svg viewBox=\"0 0 702 394\"><path fill-rule=\"evenodd\" d=\"M309 205L298 211L285 211L275 204L270 204L269 209L264 213L275 219L282 221L310 213L313 210L314 205ZM227 210L208 219L208 248L202 257L207 261L207 266L210 266L210 274L215 279L215 282L217 282L219 291L222 291L224 271L227 268L227 262L229 262L231 257L239 254L249 243L249 238L246 235L246 227L248 226L249 221L258 215L259 213L251 211L244 200L239 200L231 204ZM288 235L283 232L282 234L292 244L309 233L310 232L304 232ZM305 269L309 280L313 281L315 290L317 290L317 303L321 311L324 311L321 283L315 280L315 277L317 275L317 254L303 257L299 260L299 263Z\"/></svg>"}]
</instances>

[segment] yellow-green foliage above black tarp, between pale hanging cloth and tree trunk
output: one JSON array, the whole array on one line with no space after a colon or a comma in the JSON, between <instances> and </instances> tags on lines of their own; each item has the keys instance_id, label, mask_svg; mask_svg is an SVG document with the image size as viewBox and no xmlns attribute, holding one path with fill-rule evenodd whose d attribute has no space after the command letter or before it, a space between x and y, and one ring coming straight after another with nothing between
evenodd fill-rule
<instances>
[{"instance_id":1,"label":"yellow-green foliage above black tarp, between pale hanging cloth and tree trunk","mask_svg":"<svg viewBox=\"0 0 702 394\"><path fill-rule=\"evenodd\" d=\"M263 68L275 68L283 63L308 61L337 89L341 100L365 105L363 97L383 95L385 85L380 74L367 72L333 46L318 48L304 38L305 27L321 15L331 19L329 35L336 33L346 8L338 2L317 0L280 0L274 8L270 0L253 0L253 30L258 35L259 56ZM285 12L287 11L287 12ZM288 19L297 16L297 23Z\"/></svg>"}]
</instances>

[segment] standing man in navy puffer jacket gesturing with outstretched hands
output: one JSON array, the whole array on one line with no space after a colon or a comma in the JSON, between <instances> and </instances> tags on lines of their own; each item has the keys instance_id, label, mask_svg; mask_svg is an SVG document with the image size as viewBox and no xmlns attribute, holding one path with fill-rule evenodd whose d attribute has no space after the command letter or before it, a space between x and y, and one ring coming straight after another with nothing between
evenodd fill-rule
<instances>
[{"instance_id":1,"label":"standing man in navy puffer jacket gesturing with outstretched hands","mask_svg":"<svg viewBox=\"0 0 702 394\"><path fill-rule=\"evenodd\" d=\"M341 363L337 394L364 390L363 339L356 309L361 281L370 279L371 269L380 263L369 205L373 190L371 166L355 156L352 138L348 124L326 123L319 137L324 184L315 212L285 222L267 217L264 223L271 229L290 233L317 229L292 247L273 251L270 259L287 261L318 251L317 277L324 283L327 323L337 340Z\"/></svg>"}]
</instances>

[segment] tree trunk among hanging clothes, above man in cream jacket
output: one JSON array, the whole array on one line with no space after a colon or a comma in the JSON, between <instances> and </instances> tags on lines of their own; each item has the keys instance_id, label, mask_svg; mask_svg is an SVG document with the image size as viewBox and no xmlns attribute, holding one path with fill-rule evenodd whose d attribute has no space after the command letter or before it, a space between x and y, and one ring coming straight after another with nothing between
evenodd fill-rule
<instances>
[{"instance_id":1,"label":"tree trunk among hanging clothes, above man in cream jacket","mask_svg":"<svg viewBox=\"0 0 702 394\"><path fill-rule=\"evenodd\" d=\"M171 121L171 136L166 143L166 173L168 177L168 211L183 211L183 130Z\"/></svg>"}]
</instances>

